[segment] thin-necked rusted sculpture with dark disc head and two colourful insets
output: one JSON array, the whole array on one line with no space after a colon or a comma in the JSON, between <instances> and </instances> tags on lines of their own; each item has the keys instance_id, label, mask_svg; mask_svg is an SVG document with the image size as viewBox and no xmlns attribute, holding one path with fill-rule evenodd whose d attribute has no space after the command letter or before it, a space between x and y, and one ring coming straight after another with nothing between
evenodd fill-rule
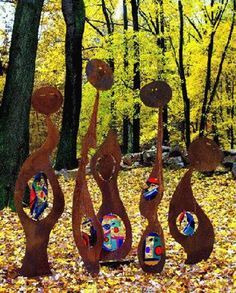
<instances>
[{"instance_id":1,"label":"thin-necked rusted sculpture with dark disc head and two colourful insets","mask_svg":"<svg viewBox=\"0 0 236 293\"><path fill-rule=\"evenodd\" d=\"M159 273L165 264L165 240L162 227L158 221L157 208L163 192L162 141L163 141L163 107L170 101L172 90L164 81L154 81L141 89L141 100L146 106L159 108L157 155L154 167L146 186L142 190L139 209L148 220L138 246L138 258L142 269L149 273Z\"/></svg>"}]
</instances>

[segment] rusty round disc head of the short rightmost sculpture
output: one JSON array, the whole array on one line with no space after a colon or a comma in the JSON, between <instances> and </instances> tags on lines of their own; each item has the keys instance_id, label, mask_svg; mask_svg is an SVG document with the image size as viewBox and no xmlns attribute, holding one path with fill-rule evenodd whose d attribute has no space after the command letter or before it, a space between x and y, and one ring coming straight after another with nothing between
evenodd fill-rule
<instances>
[{"instance_id":1,"label":"rusty round disc head of the short rightmost sculpture","mask_svg":"<svg viewBox=\"0 0 236 293\"><path fill-rule=\"evenodd\" d=\"M198 171L213 171L219 165L223 154L211 139L200 137L194 140L188 149L190 164Z\"/></svg>"}]
</instances>

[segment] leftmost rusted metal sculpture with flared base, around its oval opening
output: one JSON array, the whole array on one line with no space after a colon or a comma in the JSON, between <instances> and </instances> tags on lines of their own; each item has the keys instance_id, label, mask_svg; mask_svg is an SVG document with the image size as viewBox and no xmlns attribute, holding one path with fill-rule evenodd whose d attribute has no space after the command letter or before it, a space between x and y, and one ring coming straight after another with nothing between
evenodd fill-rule
<instances>
[{"instance_id":1,"label":"leftmost rusted metal sculpture with flared base, around its oval opening","mask_svg":"<svg viewBox=\"0 0 236 293\"><path fill-rule=\"evenodd\" d=\"M42 87L32 97L34 109L46 115L48 135L41 148L24 162L16 181L15 206L26 235L26 253L19 273L26 277L51 274L47 246L50 232L64 210L64 196L49 161L49 156L59 141L59 132L52 123L50 114L59 110L62 101L61 93L53 87ZM49 215L35 221L25 213L22 199L28 181L39 172L44 172L49 179L54 199Z\"/></svg>"}]
</instances>

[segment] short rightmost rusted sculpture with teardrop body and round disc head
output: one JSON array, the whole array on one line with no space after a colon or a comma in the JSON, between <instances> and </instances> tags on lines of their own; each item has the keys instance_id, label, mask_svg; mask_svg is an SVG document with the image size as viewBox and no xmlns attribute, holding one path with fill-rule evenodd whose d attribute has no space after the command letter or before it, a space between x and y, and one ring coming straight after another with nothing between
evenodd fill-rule
<instances>
[{"instance_id":1,"label":"short rightmost rusted sculpture with teardrop body and round disc head","mask_svg":"<svg viewBox=\"0 0 236 293\"><path fill-rule=\"evenodd\" d=\"M191 177L194 169L214 170L222 159L222 152L214 141L202 137L192 142L188 155L190 168L171 199L168 222L171 235L187 253L185 263L195 264L210 256L215 236L210 220L193 196ZM196 219L198 227L196 227ZM184 221L186 221L184 227L178 227Z\"/></svg>"}]
</instances>

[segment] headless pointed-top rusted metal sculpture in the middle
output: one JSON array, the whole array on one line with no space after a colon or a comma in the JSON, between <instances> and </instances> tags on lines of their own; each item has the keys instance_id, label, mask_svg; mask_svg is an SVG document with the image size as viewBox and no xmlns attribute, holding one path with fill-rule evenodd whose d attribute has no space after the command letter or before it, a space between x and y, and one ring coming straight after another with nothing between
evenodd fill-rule
<instances>
[{"instance_id":1,"label":"headless pointed-top rusted metal sculpture in the middle","mask_svg":"<svg viewBox=\"0 0 236 293\"><path fill-rule=\"evenodd\" d=\"M110 130L91 160L92 174L102 192L102 205L97 215L104 232L101 260L125 258L132 245L130 221L117 186L120 162L121 150L117 135L114 130Z\"/></svg>"}]
</instances>

